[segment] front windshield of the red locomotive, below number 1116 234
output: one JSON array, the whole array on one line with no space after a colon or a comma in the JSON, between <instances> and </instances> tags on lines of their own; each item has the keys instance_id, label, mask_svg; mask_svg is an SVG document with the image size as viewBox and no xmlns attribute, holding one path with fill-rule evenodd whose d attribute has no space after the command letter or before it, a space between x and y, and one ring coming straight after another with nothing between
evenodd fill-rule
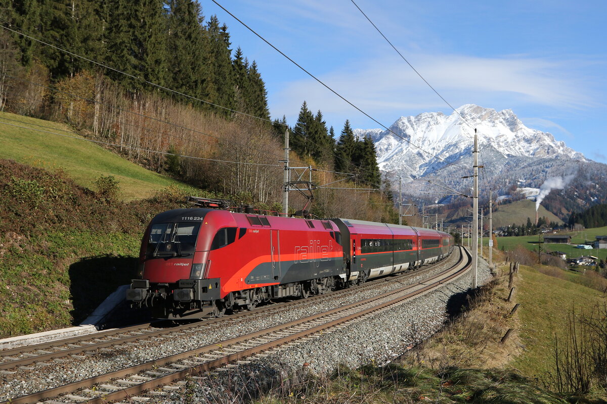
<instances>
[{"instance_id":1,"label":"front windshield of the red locomotive, below number 1116 234","mask_svg":"<svg viewBox=\"0 0 607 404\"><path fill-rule=\"evenodd\" d=\"M146 256L183 257L194 254L200 223L158 223L152 225Z\"/></svg>"}]
</instances>

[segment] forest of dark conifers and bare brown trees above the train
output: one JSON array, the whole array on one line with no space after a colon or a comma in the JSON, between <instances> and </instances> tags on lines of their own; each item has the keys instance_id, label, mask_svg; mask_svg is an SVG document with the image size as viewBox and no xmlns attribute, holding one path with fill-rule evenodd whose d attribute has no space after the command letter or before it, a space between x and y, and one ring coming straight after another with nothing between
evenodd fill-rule
<instances>
[{"instance_id":1,"label":"forest of dark conifers and bare brown trees above the train","mask_svg":"<svg viewBox=\"0 0 607 404\"><path fill-rule=\"evenodd\" d=\"M272 120L259 66L198 2L0 0L0 10L2 111L65 122L150 170L274 210L288 130L291 166L313 167L317 185L341 180L314 191L311 213L398 221L371 139L347 119L336 134L305 101L293 126Z\"/></svg>"}]
</instances>

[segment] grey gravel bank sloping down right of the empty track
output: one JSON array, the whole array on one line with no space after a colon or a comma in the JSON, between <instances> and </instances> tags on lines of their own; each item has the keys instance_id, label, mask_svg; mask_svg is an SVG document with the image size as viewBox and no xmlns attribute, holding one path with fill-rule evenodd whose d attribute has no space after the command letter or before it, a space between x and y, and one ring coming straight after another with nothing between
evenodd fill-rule
<instances>
[{"instance_id":1,"label":"grey gravel bank sloping down right of the empty track","mask_svg":"<svg viewBox=\"0 0 607 404\"><path fill-rule=\"evenodd\" d=\"M479 260L478 284L491 277L487 263ZM452 296L466 293L469 285L470 275L466 274L438 291L345 328L275 349L237 368L188 380L179 390L166 392L149 403L185 403L186 399L194 404L238 403L270 387L297 382L308 372L323 375L340 364L356 368L370 362L388 363L436 333L449 317L447 305Z\"/></svg>"}]
</instances>

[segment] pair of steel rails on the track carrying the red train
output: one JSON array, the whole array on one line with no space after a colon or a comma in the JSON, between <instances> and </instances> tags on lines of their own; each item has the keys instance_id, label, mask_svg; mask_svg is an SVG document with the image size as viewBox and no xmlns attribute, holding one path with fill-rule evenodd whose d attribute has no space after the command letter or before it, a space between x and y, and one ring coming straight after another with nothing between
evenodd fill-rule
<instances>
[{"instance_id":1,"label":"pair of steel rails on the track carrying the red train","mask_svg":"<svg viewBox=\"0 0 607 404\"><path fill-rule=\"evenodd\" d=\"M438 263L443 263L443 261L439 261ZM88 341L94 341L97 339L113 337L113 336L120 336L121 334L128 334L128 333L140 331L145 328L148 328L150 325L152 325L152 323L144 323L144 324L140 324L140 325L129 326L126 328L101 331L101 333L87 334L84 336L70 337L70 338L63 339L63 340L56 340L56 341L52 341L52 342L39 343L36 345L22 346L19 348L7 349L5 351L0 351L0 355L2 355L2 357L8 357L8 356L24 354L24 353L33 354L33 353L36 353L36 351L42 351L43 353L36 354L35 356L28 356L25 358L16 359L16 360L0 362L0 370L14 369L14 368L18 368L19 366L32 365L32 363L36 363L36 362L46 362L47 360L58 359L58 358L62 358L62 357L70 356L70 355L91 352L91 351L95 351L96 349L107 348L109 346L117 346L117 345L121 345L121 344L127 343L127 342L134 342L137 340L143 340L143 339L151 338L151 337L155 337L155 336L162 336L164 334L179 333L180 331L187 331L188 329L191 329L191 328L208 326L208 325L212 325L217 322L226 322L226 321L229 322L230 320L239 320L239 319L241 319L241 317L256 316L259 314L263 314L266 311L276 311L276 310L279 310L280 308L282 308L283 306L291 306L291 305L297 305L300 303L313 302L314 300L322 299L325 296L334 296L336 294L338 294L338 295L347 294L347 293L350 293L350 291L358 290L359 288L371 288L382 282L396 282L398 279L401 279L401 278L407 278L407 277L411 277L414 275L423 274L427 271L432 270L435 267L435 265L437 265L438 263L434 263L434 264L430 265L429 267L422 268L421 270L410 271L407 273L398 274L398 276L396 276L396 277L371 280L369 282L365 282L363 285L357 285L357 286L353 286L353 287L347 288L347 289L330 291L328 293L310 296L305 300L291 300L289 302L274 303L273 305L257 308L256 310L252 310L252 311L243 311L241 313L235 313L235 314L232 314L232 315L226 316L226 317L205 319L201 322L189 323L189 324L179 325L179 326L166 328L166 329L158 329L155 331L145 331L144 333L137 334L134 336L120 337L118 339L110 339L107 341L88 343ZM86 345L72 346L67 349L61 349L61 346L75 344L75 343L86 344ZM50 352L50 353L44 353L45 349L59 349L59 350Z\"/></svg>"}]
</instances>

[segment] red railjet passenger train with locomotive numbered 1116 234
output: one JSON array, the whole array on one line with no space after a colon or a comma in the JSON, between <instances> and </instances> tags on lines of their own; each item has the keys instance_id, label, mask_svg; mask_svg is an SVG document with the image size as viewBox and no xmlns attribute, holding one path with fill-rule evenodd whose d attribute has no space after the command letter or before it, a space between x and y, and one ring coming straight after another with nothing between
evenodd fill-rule
<instances>
[{"instance_id":1,"label":"red railjet passenger train with locomotive numbered 1116 234","mask_svg":"<svg viewBox=\"0 0 607 404\"><path fill-rule=\"evenodd\" d=\"M175 209L149 224L127 300L157 318L221 316L412 270L452 250L450 234L426 228Z\"/></svg>"}]
</instances>

